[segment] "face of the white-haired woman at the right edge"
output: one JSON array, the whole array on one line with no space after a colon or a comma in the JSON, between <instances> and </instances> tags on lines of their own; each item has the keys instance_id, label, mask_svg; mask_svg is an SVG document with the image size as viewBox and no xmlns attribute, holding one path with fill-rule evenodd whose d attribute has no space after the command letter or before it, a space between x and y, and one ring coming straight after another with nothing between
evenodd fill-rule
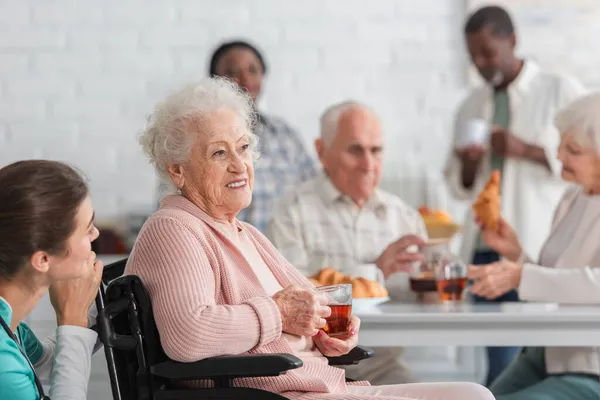
<instances>
[{"instance_id":1,"label":"face of the white-haired woman at the right edge","mask_svg":"<svg viewBox=\"0 0 600 400\"><path fill-rule=\"evenodd\" d=\"M562 178L586 189L600 187L600 157L590 147L581 146L570 134L564 134L558 147Z\"/></svg>"}]
</instances>

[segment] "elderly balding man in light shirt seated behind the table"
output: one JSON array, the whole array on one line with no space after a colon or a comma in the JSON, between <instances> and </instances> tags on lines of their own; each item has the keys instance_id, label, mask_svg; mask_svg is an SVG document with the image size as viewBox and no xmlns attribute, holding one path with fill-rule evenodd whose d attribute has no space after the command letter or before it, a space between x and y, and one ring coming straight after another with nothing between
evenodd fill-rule
<instances>
[{"instance_id":1,"label":"elderly balding man in light shirt seated behind the table","mask_svg":"<svg viewBox=\"0 0 600 400\"><path fill-rule=\"evenodd\" d=\"M397 196L378 189L383 137L377 116L345 102L321 118L315 142L323 173L288 192L274 210L267 236L304 275L332 267L355 275L361 264L383 272L392 297L413 297L408 274L423 259L427 237L420 214ZM400 348L378 348L376 356L346 367L355 379L374 385L414 377L399 359Z\"/></svg>"}]
</instances>

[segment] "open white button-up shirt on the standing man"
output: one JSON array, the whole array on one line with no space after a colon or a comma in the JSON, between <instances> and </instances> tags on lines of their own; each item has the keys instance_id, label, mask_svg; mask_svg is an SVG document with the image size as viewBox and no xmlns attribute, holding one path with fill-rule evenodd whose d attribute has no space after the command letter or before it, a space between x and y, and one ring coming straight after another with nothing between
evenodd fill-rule
<instances>
[{"instance_id":1,"label":"open white button-up shirt on the standing man","mask_svg":"<svg viewBox=\"0 0 600 400\"><path fill-rule=\"evenodd\" d=\"M581 96L585 90L575 80L543 72L532 61L526 61L517 79L508 87L510 102L509 130L526 143L542 147L551 171L528 160L506 158L502 171L502 215L515 228L526 253L536 259L550 232L552 215L567 184L561 179L561 163L557 159L560 134L554 126L556 112ZM474 89L461 104L455 121L454 140L465 122L471 118L491 121L493 90L490 86ZM489 155L482 161L470 190L462 185L462 164L452 146L445 175L453 194L473 202L490 174ZM463 227L461 257L470 262L478 228L469 213Z\"/></svg>"}]
</instances>

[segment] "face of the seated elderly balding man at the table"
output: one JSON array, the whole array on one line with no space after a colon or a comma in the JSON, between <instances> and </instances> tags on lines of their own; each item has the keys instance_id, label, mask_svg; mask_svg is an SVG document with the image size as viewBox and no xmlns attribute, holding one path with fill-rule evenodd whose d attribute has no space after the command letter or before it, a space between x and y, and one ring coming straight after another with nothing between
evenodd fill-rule
<instances>
[{"instance_id":1,"label":"face of the seated elderly balding man at the table","mask_svg":"<svg viewBox=\"0 0 600 400\"><path fill-rule=\"evenodd\" d=\"M333 142L318 145L317 152L334 186L362 207L381 179L383 135L377 117L359 107L347 110Z\"/></svg>"}]
</instances>

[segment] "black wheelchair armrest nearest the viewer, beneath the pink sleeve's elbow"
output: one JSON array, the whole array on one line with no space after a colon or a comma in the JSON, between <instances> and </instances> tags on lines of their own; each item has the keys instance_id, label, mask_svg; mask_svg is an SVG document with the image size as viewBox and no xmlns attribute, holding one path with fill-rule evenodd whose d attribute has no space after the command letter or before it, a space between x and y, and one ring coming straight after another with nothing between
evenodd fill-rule
<instances>
[{"instance_id":1,"label":"black wheelchair armrest nearest the viewer, beneath the pink sleeve's elbow","mask_svg":"<svg viewBox=\"0 0 600 400\"><path fill-rule=\"evenodd\" d=\"M165 361L151 366L150 371L173 380L233 379L278 376L302 365L302 360L291 354L252 354L213 357L191 363Z\"/></svg>"}]
</instances>

